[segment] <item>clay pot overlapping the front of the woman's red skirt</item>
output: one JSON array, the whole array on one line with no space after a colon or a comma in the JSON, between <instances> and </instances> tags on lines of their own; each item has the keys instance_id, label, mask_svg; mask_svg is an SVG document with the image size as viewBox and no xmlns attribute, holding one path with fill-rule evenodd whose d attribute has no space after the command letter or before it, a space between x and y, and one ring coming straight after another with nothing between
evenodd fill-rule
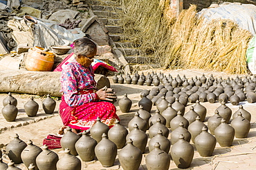
<instances>
[{"instance_id":1,"label":"clay pot overlapping the front of the woman's red skirt","mask_svg":"<svg viewBox=\"0 0 256 170\"><path fill-rule=\"evenodd\" d=\"M96 123L93 125L93 127L91 127L90 131L91 137L99 143L102 138L102 134L107 134L107 132L109 131L109 126L102 123L100 121L100 118L97 118Z\"/></svg>"}]
</instances>

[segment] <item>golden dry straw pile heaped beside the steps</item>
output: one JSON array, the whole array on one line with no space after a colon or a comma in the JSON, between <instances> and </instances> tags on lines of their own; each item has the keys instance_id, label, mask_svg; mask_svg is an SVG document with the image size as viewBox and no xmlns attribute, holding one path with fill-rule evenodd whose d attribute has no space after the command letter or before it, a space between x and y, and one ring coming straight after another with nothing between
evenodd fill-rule
<instances>
[{"instance_id":1,"label":"golden dry straw pile heaped beside the steps","mask_svg":"<svg viewBox=\"0 0 256 170\"><path fill-rule=\"evenodd\" d=\"M164 68L183 67L244 74L252 34L229 20L205 23L196 6L172 16L169 0L122 0L124 39ZM128 17L127 17L128 16Z\"/></svg>"}]
</instances>

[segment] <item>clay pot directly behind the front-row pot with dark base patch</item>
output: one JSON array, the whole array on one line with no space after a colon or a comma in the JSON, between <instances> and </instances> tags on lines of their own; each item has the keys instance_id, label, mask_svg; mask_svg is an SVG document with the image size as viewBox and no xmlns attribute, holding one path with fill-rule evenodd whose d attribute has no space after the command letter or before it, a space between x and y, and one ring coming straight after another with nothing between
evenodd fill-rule
<instances>
[{"instance_id":1,"label":"clay pot directly behind the front-row pot with dark base patch","mask_svg":"<svg viewBox=\"0 0 256 170\"><path fill-rule=\"evenodd\" d=\"M172 145L174 145L179 140L179 137L181 134L183 135L184 140L190 142L190 139L191 139L190 132L184 128L183 123L180 123L179 127L176 128L174 131L172 131L172 134L171 134Z\"/></svg>"}]
</instances>

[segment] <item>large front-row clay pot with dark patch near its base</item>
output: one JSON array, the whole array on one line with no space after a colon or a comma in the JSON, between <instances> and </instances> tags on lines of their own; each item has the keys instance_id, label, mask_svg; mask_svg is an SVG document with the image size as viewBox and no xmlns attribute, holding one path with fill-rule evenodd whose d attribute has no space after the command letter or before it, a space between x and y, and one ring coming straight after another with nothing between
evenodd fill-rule
<instances>
[{"instance_id":1,"label":"large front-row clay pot with dark patch near its base","mask_svg":"<svg viewBox=\"0 0 256 170\"><path fill-rule=\"evenodd\" d=\"M179 140L171 148L171 156L178 168L188 168L193 160L194 147L184 140L181 134Z\"/></svg>"}]
</instances>

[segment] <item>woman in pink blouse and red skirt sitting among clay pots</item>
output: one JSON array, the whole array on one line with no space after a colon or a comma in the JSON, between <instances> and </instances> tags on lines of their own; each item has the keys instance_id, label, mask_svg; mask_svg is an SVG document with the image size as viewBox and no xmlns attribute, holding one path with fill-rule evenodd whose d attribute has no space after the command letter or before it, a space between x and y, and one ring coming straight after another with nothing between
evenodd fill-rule
<instances>
[{"instance_id":1,"label":"woman in pink blouse and red skirt sitting among clay pots","mask_svg":"<svg viewBox=\"0 0 256 170\"><path fill-rule=\"evenodd\" d=\"M116 119L116 107L109 102L116 95L111 89L96 89L91 63L97 52L97 45L88 38L73 42L75 59L62 65L60 116L64 126L84 131L91 128L96 118L100 118L110 128ZM62 131L65 127L62 127Z\"/></svg>"}]
</instances>

